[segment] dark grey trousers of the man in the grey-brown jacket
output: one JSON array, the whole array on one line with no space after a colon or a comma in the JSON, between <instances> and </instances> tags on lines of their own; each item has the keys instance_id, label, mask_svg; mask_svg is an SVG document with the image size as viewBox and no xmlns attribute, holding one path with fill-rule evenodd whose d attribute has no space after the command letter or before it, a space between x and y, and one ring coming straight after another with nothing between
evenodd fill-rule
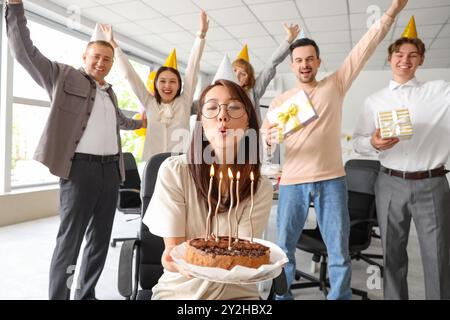
<instances>
[{"instance_id":1,"label":"dark grey trousers of the man in the grey-brown jacket","mask_svg":"<svg viewBox=\"0 0 450 320\"><path fill-rule=\"evenodd\" d=\"M75 298L95 298L95 286L108 253L119 184L118 162L73 160L69 180L60 180L61 224L50 265L50 299L70 299L75 266L85 235L86 246Z\"/></svg>"}]
</instances>

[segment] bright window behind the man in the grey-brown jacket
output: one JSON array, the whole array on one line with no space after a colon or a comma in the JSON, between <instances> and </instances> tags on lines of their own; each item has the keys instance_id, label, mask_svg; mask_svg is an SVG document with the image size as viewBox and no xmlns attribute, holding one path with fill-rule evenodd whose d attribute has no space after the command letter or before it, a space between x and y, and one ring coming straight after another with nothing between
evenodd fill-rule
<instances>
[{"instance_id":1,"label":"bright window behind the man in the grey-brown jacket","mask_svg":"<svg viewBox=\"0 0 450 320\"><path fill-rule=\"evenodd\" d=\"M28 27L33 43L47 58L74 67L81 65L86 41L30 20ZM14 103L12 110L11 188L55 183L58 178L32 159L50 112L49 104L43 105L50 99L16 61L13 96L20 103Z\"/></svg>"}]
</instances>

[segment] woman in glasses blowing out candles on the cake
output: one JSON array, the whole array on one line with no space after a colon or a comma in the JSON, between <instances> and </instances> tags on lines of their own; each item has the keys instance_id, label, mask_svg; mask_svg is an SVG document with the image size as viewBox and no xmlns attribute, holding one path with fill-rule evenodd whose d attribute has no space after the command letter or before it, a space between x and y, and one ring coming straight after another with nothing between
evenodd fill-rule
<instances>
[{"instance_id":1,"label":"woman in glasses blowing out candles on the cake","mask_svg":"<svg viewBox=\"0 0 450 320\"><path fill-rule=\"evenodd\" d=\"M206 139L202 139L203 136ZM255 192L252 224L254 236L261 237L272 203L272 185L260 175L258 136L255 109L237 83L217 80L203 91L188 155L171 157L163 162L158 172L155 192L143 218L143 223L149 227L150 232L163 237L165 243L161 259L164 273L152 289L152 299L259 299L255 284L224 284L191 278L170 256L171 250L178 244L205 236L211 163L216 168L211 194L212 208L218 202L219 172L225 176L230 168L234 174L238 171L241 174L237 212L240 217L240 237L250 236L251 232L249 176L253 171ZM245 156L241 158L241 155ZM224 178L221 185L218 214L221 236L228 235L229 230L229 181L228 177ZM236 205L236 201L234 203ZM234 208L232 212L234 213ZM214 231L215 217L212 222Z\"/></svg>"}]
</instances>

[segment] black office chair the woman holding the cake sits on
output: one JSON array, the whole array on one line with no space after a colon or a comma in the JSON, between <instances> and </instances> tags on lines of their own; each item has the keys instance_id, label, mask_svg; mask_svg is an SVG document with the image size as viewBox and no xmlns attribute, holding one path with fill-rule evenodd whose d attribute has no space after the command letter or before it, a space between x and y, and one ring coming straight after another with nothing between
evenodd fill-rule
<instances>
[{"instance_id":1,"label":"black office chair the woman holding the cake sits on","mask_svg":"<svg viewBox=\"0 0 450 320\"><path fill-rule=\"evenodd\" d=\"M141 217L143 218L150 199L155 190L158 170L163 161L172 153L156 154L145 165L142 183ZM142 219L141 219L142 221ZM149 300L152 288L163 274L161 256L164 251L164 241L152 234L141 222L138 239L125 241L119 258L118 289L127 300ZM139 287L141 289L139 289ZM268 300L287 291L284 270L273 281Z\"/></svg>"}]
</instances>

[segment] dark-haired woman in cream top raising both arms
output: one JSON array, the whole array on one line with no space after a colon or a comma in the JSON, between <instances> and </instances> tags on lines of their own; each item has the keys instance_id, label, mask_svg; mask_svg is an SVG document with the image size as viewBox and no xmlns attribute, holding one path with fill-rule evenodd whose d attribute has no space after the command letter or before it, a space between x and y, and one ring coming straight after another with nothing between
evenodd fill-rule
<instances>
[{"instance_id":1,"label":"dark-haired woman in cream top raising both arms","mask_svg":"<svg viewBox=\"0 0 450 320\"><path fill-rule=\"evenodd\" d=\"M110 26L101 25L107 41L115 48L120 72L145 108L148 119L142 160L161 152L186 152L189 146L189 118L197 85L200 59L205 47L209 20L200 13L200 29L192 47L186 67L184 86L178 70L160 67L154 79L155 95L148 92L126 54L119 48ZM183 92L181 88L183 87Z\"/></svg>"}]
</instances>

